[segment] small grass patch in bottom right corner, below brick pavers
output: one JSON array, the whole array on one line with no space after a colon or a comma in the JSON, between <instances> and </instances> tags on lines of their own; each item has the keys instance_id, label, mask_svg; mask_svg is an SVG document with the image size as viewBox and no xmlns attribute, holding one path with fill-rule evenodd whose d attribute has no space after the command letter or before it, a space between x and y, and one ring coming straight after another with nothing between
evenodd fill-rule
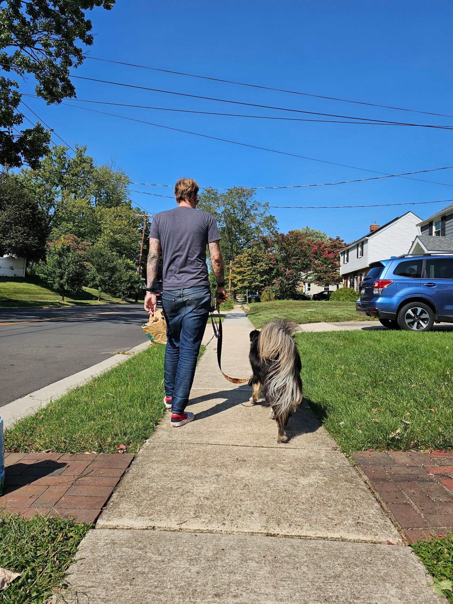
<instances>
[{"instance_id":1,"label":"small grass patch in bottom right corner, below brick pavers","mask_svg":"<svg viewBox=\"0 0 453 604\"><path fill-rule=\"evenodd\" d=\"M434 590L453 604L453 535L417 541L411 547L434 577Z\"/></svg>"}]
</instances>

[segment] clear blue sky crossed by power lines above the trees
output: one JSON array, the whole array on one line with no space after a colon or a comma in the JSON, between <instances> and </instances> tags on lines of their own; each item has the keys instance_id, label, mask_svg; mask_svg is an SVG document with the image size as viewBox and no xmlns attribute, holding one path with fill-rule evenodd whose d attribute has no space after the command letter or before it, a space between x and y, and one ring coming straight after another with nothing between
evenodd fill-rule
<instances>
[{"instance_id":1,"label":"clear blue sky crossed by power lines above the trees","mask_svg":"<svg viewBox=\"0 0 453 604\"><path fill-rule=\"evenodd\" d=\"M449 0L241 2L117 0L111 11L91 13L89 53L174 71L286 88L313 94L453 115L453 5ZM453 125L453 118L366 107L283 92L244 88L145 69L86 60L79 76L115 80L246 103L380 120ZM75 80L77 97L120 103L309 117L208 100ZM22 89L33 92L30 79ZM97 162L114 159L133 181L173 184L193 176L200 185L251 187L335 182L372 173L211 141L67 106L27 104L68 143L86 144ZM68 101L71 102L71 101ZM76 104L76 103L74 103ZM83 104L83 106L89 106ZM177 114L93 106L120 115L193 130L387 173L453 164L453 132L403 126L319 124ZM453 170L420 175L453 185ZM133 187L171 194L171 189ZM356 205L447 200L451 186L390 178L335 187L258 191L271 205ZM133 194L149 212L171 199ZM445 202L444 205L448 205ZM272 212L280 230L309 225L355 240L376 220L383 224L413 210L424 218L442 204L349 210Z\"/></svg>"}]
</instances>

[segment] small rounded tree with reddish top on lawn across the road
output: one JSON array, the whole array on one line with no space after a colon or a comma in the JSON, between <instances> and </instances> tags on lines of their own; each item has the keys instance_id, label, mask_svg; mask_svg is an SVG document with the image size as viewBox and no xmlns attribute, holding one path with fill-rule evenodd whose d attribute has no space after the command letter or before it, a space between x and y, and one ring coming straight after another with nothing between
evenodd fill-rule
<instances>
[{"instance_id":1,"label":"small rounded tree with reddish top on lawn across the road","mask_svg":"<svg viewBox=\"0 0 453 604\"><path fill-rule=\"evenodd\" d=\"M46 259L37 265L36 272L61 295L64 302L66 295L82 292L87 275L88 244L74 235L66 235L47 246Z\"/></svg>"}]
</instances>

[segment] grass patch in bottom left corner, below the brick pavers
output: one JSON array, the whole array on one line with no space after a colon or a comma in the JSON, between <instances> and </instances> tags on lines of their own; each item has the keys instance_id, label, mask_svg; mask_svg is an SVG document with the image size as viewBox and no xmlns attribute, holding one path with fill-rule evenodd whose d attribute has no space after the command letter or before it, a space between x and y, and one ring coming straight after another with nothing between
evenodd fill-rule
<instances>
[{"instance_id":1,"label":"grass patch in bottom left corner, below the brick pavers","mask_svg":"<svg viewBox=\"0 0 453 604\"><path fill-rule=\"evenodd\" d=\"M22 576L1 592L1 602L49 602L90 526L47 516L25 520L4 513L0 521L0 567Z\"/></svg>"}]
</instances>

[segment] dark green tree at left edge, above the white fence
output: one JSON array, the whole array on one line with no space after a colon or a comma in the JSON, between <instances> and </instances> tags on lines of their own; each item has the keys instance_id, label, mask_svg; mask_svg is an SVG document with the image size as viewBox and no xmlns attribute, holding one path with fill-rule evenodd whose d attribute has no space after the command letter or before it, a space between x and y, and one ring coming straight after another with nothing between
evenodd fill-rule
<instances>
[{"instance_id":1,"label":"dark green tree at left edge, above the white fence","mask_svg":"<svg viewBox=\"0 0 453 604\"><path fill-rule=\"evenodd\" d=\"M27 188L0 178L0 255L39 260L45 254L48 229L44 213Z\"/></svg>"}]
</instances>

